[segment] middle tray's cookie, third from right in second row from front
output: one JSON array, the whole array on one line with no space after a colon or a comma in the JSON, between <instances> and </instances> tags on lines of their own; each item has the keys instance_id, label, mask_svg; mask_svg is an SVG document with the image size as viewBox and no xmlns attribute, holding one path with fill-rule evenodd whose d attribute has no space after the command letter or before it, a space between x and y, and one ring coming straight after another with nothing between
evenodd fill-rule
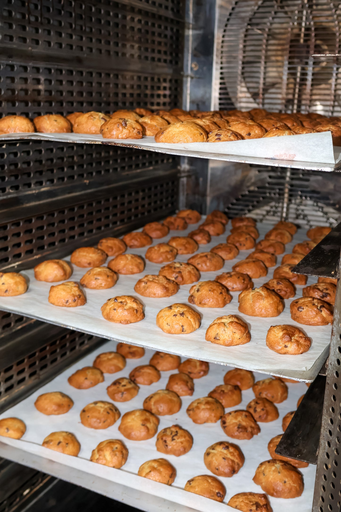
<instances>
[{"instance_id":1,"label":"middle tray's cookie, third from right in second row from front","mask_svg":"<svg viewBox=\"0 0 341 512\"><path fill-rule=\"evenodd\" d=\"M232 301L228 290L217 281L199 281L190 288L188 302L200 308L223 308Z\"/></svg>"}]
</instances>

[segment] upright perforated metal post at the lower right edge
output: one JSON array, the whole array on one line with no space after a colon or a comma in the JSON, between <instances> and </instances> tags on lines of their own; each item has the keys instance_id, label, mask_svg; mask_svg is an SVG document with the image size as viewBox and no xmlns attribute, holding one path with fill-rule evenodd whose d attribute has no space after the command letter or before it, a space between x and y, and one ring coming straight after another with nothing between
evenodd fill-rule
<instances>
[{"instance_id":1,"label":"upright perforated metal post at the lower right edge","mask_svg":"<svg viewBox=\"0 0 341 512\"><path fill-rule=\"evenodd\" d=\"M341 266L338 264L338 276ZM327 367L313 512L338 512L341 501L341 280L335 309Z\"/></svg>"}]
</instances>

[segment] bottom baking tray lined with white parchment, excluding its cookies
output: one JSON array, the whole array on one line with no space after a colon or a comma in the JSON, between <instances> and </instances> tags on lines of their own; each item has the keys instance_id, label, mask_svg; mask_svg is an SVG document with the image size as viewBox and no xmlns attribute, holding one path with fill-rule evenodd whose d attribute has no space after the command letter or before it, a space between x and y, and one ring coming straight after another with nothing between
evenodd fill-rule
<instances>
[{"instance_id":1,"label":"bottom baking tray lined with white parchment, excluding its cookies","mask_svg":"<svg viewBox=\"0 0 341 512\"><path fill-rule=\"evenodd\" d=\"M206 396L215 386L223 383L223 376L230 368L214 366L210 368L207 376L194 380L193 396L181 397L182 407L177 414L172 416L161 416L158 431L172 424L179 424L188 430L194 439L193 447L190 452L181 457L166 456L157 452L155 449L156 436L147 441L129 441L125 439L118 431L120 420L105 430L87 429L80 423L79 413L82 408L89 402L94 400L109 400L106 394L107 386L116 378L128 376L130 371L141 364L148 364L152 351L147 350L141 359L127 359L126 367L115 374L105 374L105 381L90 388L88 390L77 390L69 385L67 378L74 373L75 370L83 366L92 365L95 357L101 352L115 350L116 343L108 342L93 353L77 362L69 369L65 370L54 380L43 386L16 406L7 410L0 416L18 417L25 421L27 431L21 440L9 439L2 437L0 443L0 455L11 460L24 461L25 464L35 467L39 470L47 471L53 475L73 483L90 487L99 493L109 494L116 498L114 491L111 489L111 483L120 484L130 487L132 494L136 491L149 494L157 500L173 502L170 510L183 511L187 507L200 512L223 512L223 510L234 510L230 507L226 508L229 499L240 492L251 491L261 493L261 487L256 485L252 478L255 474L258 464L264 460L268 460L270 455L267 451L269 440L282 433L282 418L289 412L296 409L296 404L301 395L307 391L304 383L289 383L288 398L282 403L277 404L280 416L276 421L269 423L259 423L261 432L258 436L254 436L251 440L237 440L228 438L220 427L220 422L206 423L197 425L187 416L186 409L190 402L196 398ZM143 400L151 393L158 389L164 389L169 376L176 371L162 372L162 377L158 382L151 386L140 386L140 391L136 397L128 402L115 402L116 406L123 415L127 411L142 408ZM264 374L255 374L256 380L266 377ZM61 391L71 396L74 400L74 407L67 413L59 416L44 416L34 407L34 401L41 393L51 391ZM245 409L246 404L254 398L252 389L242 392L242 402L233 408L225 409L225 412L235 409ZM66 430L73 432L81 444L81 451L78 457L66 456L41 446L42 440L48 434L58 430ZM121 439L129 450L129 456L126 464L121 470L115 470L100 464L89 461L92 450L97 444L105 439ZM217 441L228 440L240 446L244 456L245 463L238 474L232 478L218 477L226 487L226 497L224 503L218 503L208 500L201 496L188 493L184 490L187 480L196 475L210 474L209 470L203 463L203 454L208 446ZM166 486L157 482L143 479L137 476L138 468L146 460L154 458L166 458L174 465L177 476L172 486ZM315 466L309 465L302 468L305 489L300 498L291 500L269 498L274 512L287 512L288 504L293 510L300 512L310 512L312 504L312 495L315 479ZM99 481L100 480L100 481ZM107 484L103 484L103 482ZM122 498L124 500L124 498ZM125 500L124 500L125 501ZM174 506L176 503L176 506ZM147 504L141 500L140 504L135 503L144 510L151 510ZM183 508L186 507L186 508ZM166 508L163 508L165 510ZM168 509L168 508L167 508ZM160 510L162 507L160 506Z\"/></svg>"}]
</instances>

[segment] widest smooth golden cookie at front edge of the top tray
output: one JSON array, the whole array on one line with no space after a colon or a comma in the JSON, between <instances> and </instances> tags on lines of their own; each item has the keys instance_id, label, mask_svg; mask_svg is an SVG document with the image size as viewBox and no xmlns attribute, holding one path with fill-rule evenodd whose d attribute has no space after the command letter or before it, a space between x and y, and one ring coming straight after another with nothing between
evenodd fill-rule
<instances>
[{"instance_id":1,"label":"widest smooth golden cookie at front edge of the top tray","mask_svg":"<svg viewBox=\"0 0 341 512\"><path fill-rule=\"evenodd\" d=\"M166 128L160 130L160 132L157 132L155 135L155 142L187 144L188 142L206 141L206 131L192 121L180 121L178 123L169 124Z\"/></svg>"}]
</instances>

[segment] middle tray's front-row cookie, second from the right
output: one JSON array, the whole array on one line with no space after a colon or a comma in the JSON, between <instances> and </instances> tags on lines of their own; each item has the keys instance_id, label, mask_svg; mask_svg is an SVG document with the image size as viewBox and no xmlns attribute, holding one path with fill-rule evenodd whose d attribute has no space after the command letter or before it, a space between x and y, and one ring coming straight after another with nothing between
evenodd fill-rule
<instances>
[{"instance_id":1,"label":"middle tray's front-row cookie, second from the right","mask_svg":"<svg viewBox=\"0 0 341 512\"><path fill-rule=\"evenodd\" d=\"M251 339L247 324L235 315L225 315L216 318L206 331L207 342L224 347L244 345Z\"/></svg>"}]
</instances>

